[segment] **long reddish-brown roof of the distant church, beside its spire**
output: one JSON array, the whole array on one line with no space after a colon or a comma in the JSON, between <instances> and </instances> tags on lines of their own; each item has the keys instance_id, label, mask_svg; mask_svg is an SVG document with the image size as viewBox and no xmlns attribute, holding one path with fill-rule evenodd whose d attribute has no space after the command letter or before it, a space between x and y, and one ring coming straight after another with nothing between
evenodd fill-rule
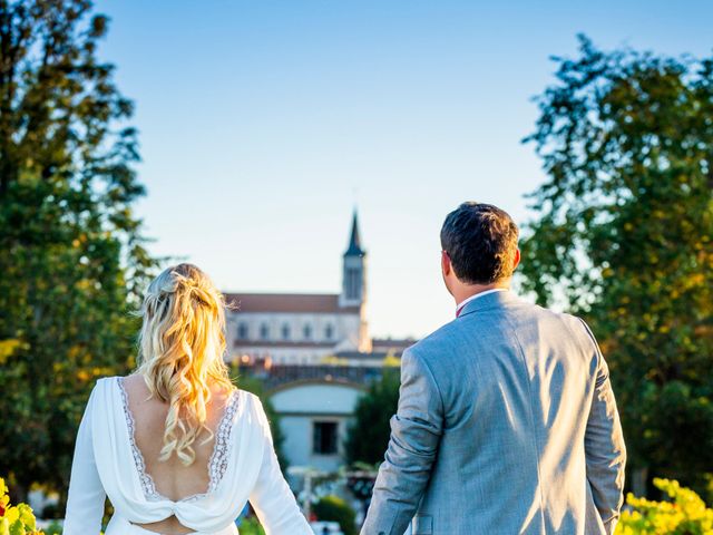
<instances>
[{"instance_id":1,"label":"long reddish-brown roof of the distant church, beside its spire","mask_svg":"<svg viewBox=\"0 0 713 535\"><path fill-rule=\"evenodd\" d=\"M359 313L359 307L340 307L335 293L226 293L238 312Z\"/></svg>"}]
</instances>

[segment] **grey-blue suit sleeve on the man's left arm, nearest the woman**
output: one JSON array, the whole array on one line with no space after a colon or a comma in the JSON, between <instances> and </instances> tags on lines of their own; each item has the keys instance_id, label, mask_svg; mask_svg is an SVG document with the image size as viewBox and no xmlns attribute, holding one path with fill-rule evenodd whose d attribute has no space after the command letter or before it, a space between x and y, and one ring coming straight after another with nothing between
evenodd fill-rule
<instances>
[{"instance_id":1,"label":"grey-blue suit sleeve on the man's left arm, nearest the woman","mask_svg":"<svg viewBox=\"0 0 713 535\"><path fill-rule=\"evenodd\" d=\"M362 535L403 535L428 485L443 432L436 379L413 351L401 358L399 408Z\"/></svg>"}]
</instances>

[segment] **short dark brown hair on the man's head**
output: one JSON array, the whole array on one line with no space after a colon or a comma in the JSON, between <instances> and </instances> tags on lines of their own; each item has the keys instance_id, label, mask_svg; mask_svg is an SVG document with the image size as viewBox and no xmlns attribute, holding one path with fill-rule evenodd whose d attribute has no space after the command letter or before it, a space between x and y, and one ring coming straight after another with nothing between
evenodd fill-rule
<instances>
[{"instance_id":1,"label":"short dark brown hair on the man's head","mask_svg":"<svg viewBox=\"0 0 713 535\"><path fill-rule=\"evenodd\" d=\"M446 216L441 249L460 281L491 284L512 275L517 237L517 225L507 212L468 202Z\"/></svg>"}]
</instances>

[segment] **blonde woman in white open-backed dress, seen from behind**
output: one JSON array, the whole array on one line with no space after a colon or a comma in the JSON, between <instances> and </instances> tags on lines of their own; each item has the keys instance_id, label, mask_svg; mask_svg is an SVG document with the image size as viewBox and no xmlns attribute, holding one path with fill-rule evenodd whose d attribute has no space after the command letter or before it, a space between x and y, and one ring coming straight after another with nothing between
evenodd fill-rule
<instances>
[{"instance_id":1,"label":"blonde woman in white open-backed dress, seen from behind","mask_svg":"<svg viewBox=\"0 0 713 535\"><path fill-rule=\"evenodd\" d=\"M77 435L65 535L235 535L247 500L267 535L312 534L257 397L223 361L223 295L192 264L165 270L141 308L138 369L97 381Z\"/></svg>"}]
</instances>

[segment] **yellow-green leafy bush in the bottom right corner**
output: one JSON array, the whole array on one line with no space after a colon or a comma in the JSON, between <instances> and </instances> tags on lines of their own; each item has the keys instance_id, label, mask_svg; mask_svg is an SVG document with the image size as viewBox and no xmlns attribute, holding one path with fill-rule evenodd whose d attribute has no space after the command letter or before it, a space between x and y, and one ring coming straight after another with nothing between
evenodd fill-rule
<instances>
[{"instance_id":1,"label":"yellow-green leafy bush in the bottom right corner","mask_svg":"<svg viewBox=\"0 0 713 535\"><path fill-rule=\"evenodd\" d=\"M655 478L654 485L671 497L671 502L652 502L633 494L616 527L616 535L710 535L713 534L713 509L709 509L693 490L671 479Z\"/></svg>"}]
</instances>

